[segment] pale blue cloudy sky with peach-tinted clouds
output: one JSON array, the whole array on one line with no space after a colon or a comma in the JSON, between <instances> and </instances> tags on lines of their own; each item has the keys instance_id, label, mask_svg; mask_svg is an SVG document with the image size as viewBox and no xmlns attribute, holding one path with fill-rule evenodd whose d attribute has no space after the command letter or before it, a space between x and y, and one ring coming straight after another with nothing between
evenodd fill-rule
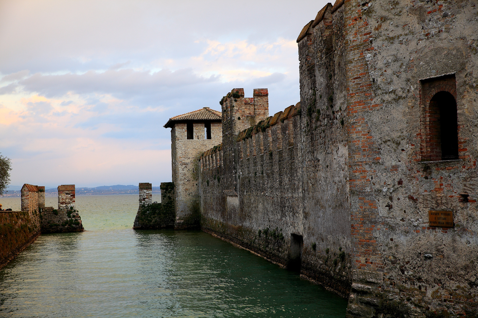
<instances>
[{"instance_id":1,"label":"pale blue cloudy sky with peach-tinted clouds","mask_svg":"<svg viewBox=\"0 0 478 318\"><path fill-rule=\"evenodd\" d=\"M233 88L299 102L295 40L326 2L0 0L11 185L171 181L170 117Z\"/></svg>"}]
</instances>

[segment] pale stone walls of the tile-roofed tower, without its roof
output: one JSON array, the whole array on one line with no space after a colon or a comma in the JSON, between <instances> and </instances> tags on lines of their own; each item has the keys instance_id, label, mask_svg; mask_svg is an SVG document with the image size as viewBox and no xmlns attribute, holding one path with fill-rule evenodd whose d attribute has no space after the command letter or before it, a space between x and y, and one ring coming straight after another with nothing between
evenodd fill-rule
<instances>
[{"instance_id":1,"label":"pale stone walls of the tile-roofed tower, without its roof","mask_svg":"<svg viewBox=\"0 0 478 318\"><path fill-rule=\"evenodd\" d=\"M211 122L211 139L204 139L204 123L193 123L194 139L187 139L186 123L175 123L171 129L172 169L175 198L175 228L199 226L199 190L197 187L199 155L222 141L221 124Z\"/></svg>"}]
</instances>

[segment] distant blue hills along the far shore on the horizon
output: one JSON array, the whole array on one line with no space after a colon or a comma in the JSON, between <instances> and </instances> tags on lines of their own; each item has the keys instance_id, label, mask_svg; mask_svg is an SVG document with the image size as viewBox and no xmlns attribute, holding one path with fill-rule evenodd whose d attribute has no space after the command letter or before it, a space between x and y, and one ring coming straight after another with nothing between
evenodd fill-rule
<instances>
[{"instance_id":1,"label":"distant blue hills along the far shore on the horizon","mask_svg":"<svg viewBox=\"0 0 478 318\"><path fill-rule=\"evenodd\" d=\"M159 186L152 187L152 193L161 193ZM96 188L76 187L75 195L137 195L137 185L101 185ZM57 196L56 188L45 189L46 196ZM8 191L4 196L21 196L20 191Z\"/></svg>"}]
</instances>

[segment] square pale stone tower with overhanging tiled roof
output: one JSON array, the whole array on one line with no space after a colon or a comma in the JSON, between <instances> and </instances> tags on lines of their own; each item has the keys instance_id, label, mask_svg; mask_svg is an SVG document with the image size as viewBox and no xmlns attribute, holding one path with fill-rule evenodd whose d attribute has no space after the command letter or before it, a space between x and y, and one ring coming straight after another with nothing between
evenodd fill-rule
<instances>
[{"instance_id":1,"label":"square pale stone tower with overhanging tiled roof","mask_svg":"<svg viewBox=\"0 0 478 318\"><path fill-rule=\"evenodd\" d=\"M203 151L222 142L221 113L204 107L170 118L164 128L171 128L174 228L198 226L197 160Z\"/></svg>"}]
</instances>

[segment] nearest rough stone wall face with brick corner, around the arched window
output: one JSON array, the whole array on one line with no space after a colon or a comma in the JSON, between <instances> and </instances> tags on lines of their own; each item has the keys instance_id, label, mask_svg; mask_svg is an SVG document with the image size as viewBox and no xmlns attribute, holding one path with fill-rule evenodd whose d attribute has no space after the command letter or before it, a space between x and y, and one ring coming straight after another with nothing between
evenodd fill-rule
<instances>
[{"instance_id":1,"label":"nearest rough stone wall face with brick corner, around the arched window","mask_svg":"<svg viewBox=\"0 0 478 318\"><path fill-rule=\"evenodd\" d=\"M369 306L369 291L380 290L413 315L473 317L478 8L474 1L400 0L346 2L343 10L357 273L348 314L383 311ZM428 109L439 91L456 99L459 156L426 163L439 159ZM430 210L453 211L454 226L430 226Z\"/></svg>"}]
</instances>

